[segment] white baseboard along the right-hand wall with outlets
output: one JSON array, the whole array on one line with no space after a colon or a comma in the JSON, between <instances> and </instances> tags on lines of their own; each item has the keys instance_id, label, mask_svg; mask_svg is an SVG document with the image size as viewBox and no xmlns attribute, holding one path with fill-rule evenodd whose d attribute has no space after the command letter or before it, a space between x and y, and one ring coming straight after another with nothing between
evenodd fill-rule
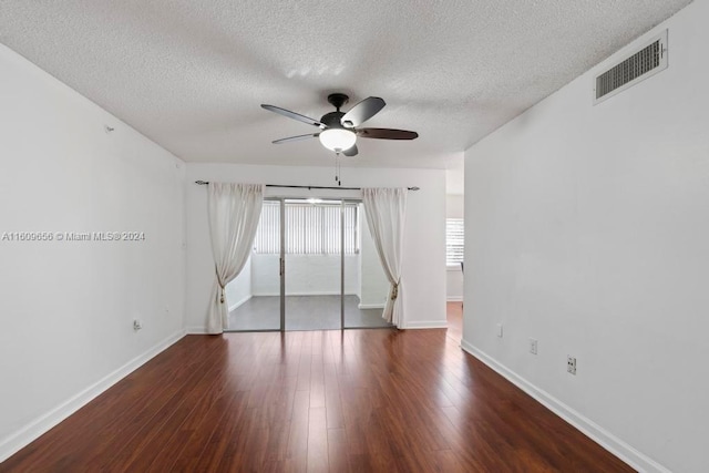
<instances>
[{"instance_id":1,"label":"white baseboard along the right-hand wall with outlets","mask_svg":"<svg viewBox=\"0 0 709 473\"><path fill-rule=\"evenodd\" d=\"M670 473L670 470L666 469L655 460L650 459L646 454L630 446L628 443L618 439L590 419L584 417L582 413L575 411L562 401L537 388L526 379L522 378L504 364L497 362L494 358L490 357L482 350L479 350L466 340L461 340L461 348L467 353L477 358L487 367L496 371L507 381L515 384L517 388L530 394L532 398L540 401L544 407L554 412L559 418L582 431L586 436L598 443L600 446L636 469L640 472L658 472Z\"/></svg>"}]
</instances>

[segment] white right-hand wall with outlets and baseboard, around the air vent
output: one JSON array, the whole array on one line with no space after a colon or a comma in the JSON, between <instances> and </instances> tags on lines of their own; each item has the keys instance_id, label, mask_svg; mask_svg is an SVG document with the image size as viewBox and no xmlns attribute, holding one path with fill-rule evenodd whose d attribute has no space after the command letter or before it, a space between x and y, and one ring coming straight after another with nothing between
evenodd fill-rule
<instances>
[{"instance_id":1,"label":"white right-hand wall with outlets and baseboard, around the air vent","mask_svg":"<svg viewBox=\"0 0 709 473\"><path fill-rule=\"evenodd\" d=\"M465 156L463 346L646 471L707 471L708 19L659 27L668 70L592 106L596 68Z\"/></svg>"}]
</instances>

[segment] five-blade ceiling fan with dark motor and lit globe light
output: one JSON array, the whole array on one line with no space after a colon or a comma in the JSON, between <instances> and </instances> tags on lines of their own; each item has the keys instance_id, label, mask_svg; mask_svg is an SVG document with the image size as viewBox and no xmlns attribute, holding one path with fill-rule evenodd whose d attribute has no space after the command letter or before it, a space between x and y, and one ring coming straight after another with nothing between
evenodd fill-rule
<instances>
[{"instance_id":1,"label":"five-blade ceiling fan with dark motor and lit globe light","mask_svg":"<svg viewBox=\"0 0 709 473\"><path fill-rule=\"evenodd\" d=\"M378 96L370 96L351 107L349 112L340 112L340 109L349 99L342 93L328 95L328 102L337 110L326 113L320 121L275 105L261 104L261 107L320 128L317 133L276 140L274 144L318 137L322 146L332 150L336 154L342 153L345 156L356 156L358 153L356 144L358 136L378 140L415 140L419 136L417 132L407 130L360 128L359 126L362 123L379 113L387 103Z\"/></svg>"}]
</instances>

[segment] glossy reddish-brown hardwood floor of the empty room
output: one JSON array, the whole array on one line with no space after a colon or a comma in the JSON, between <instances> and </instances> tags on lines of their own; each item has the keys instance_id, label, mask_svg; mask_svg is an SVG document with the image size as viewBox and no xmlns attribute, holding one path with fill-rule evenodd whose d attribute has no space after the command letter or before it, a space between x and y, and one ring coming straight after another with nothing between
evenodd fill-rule
<instances>
[{"instance_id":1,"label":"glossy reddish-brown hardwood floor of the empty room","mask_svg":"<svg viewBox=\"0 0 709 473\"><path fill-rule=\"evenodd\" d=\"M188 336L2 472L633 471L445 330Z\"/></svg>"}]
</instances>

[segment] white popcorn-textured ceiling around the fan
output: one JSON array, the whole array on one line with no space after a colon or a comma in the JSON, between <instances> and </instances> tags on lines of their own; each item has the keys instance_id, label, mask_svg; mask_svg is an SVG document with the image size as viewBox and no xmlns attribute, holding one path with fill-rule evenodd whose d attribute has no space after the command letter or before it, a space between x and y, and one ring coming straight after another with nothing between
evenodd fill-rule
<instances>
[{"instance_id":1,"label":"white popcorn-textured ceiling around the fan","mask_svg":"<svg viewBox=\"0 0 709 473\"><path fill-rule=\"evenodd\" d=\"M689 2L0 0L0 42L188 162L329 165L270 144L317 130L259 104L319 119L345 92L420 137L343 165L443 168Z\"/></svg>"}]
</instances>

